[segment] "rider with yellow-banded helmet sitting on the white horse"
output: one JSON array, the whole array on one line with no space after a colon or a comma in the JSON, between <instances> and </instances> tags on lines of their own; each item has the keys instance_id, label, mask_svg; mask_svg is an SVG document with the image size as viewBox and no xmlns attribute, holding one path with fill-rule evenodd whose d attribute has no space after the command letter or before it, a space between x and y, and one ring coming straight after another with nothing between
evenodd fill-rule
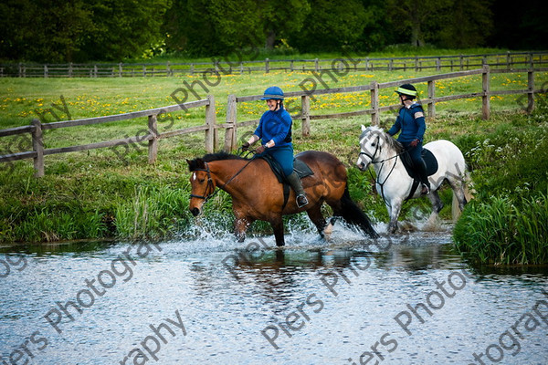
<instances>
[{"instance_id":1,"label":"rider with yellow-banded helmet sitting on the white horse","mask_svg":"<svg viewBox=\"0 0 548 365\"><path fill-rule=\"evenodd\" d=\"M422 106L415 100L416 89L413 85L404 84L395 92L399 95L403 106L399 110L394 125L388 130L388 134L394 136L401 130L397 141L400 141L409 153L422 184L421 193L426 195L430 193L430 183L427 177L427 165L421 155L423 138L427 130L425 113Z\"/></svg>"}]
</instances>

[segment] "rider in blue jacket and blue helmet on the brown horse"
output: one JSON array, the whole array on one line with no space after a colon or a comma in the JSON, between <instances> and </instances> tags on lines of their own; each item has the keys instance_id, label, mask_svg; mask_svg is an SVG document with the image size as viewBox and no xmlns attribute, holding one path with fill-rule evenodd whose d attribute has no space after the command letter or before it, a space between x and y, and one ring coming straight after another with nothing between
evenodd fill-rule
<instances>
[{"instance_id":1,"label":"rider in blue jacket and blue helmet on the brown horse","mask_svg":"<svg viewBox=\"0 0 548 365\"><path fill-rule=\"evenodd\" d=\"M242 145L242 150L247 151L249 145L258 140L262 145L255 150L258 154L268 153L274 158L291 188L297 195L297 206L301 207L308 204L308 199L300 177L297 172L293 172L293 144L291 143L291 120L290 113L283 107L283 91L276 86L265 90L261 100L267 100L269 110L265 111L258 122L258 127L247 142Z\"/></svg>"}]
</instances>

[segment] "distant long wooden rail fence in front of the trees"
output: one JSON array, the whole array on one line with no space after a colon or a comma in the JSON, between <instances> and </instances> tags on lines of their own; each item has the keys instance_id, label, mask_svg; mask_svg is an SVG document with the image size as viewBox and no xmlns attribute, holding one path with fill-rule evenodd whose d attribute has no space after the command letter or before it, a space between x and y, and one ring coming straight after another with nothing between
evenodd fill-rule
<instances>
[{"instance_id":1,"label":"distant long wooden rail fence in front of the trees","mask_svg":"<svg viewBox=\"0 0 548 365\"><path fill-rule=\"evenodd\" d=\"M548 52L507 52L485 55L429 57L353 57L334 59L213 59L194 63L136 64L3 64L0 77L16 78L122 78L173 77L194 74L243 74L270 71L319 72L324 69L345 71L448 70L463 71L483 66L490 68L543 68L548 66Z\"/></svg>"}]
</instances>

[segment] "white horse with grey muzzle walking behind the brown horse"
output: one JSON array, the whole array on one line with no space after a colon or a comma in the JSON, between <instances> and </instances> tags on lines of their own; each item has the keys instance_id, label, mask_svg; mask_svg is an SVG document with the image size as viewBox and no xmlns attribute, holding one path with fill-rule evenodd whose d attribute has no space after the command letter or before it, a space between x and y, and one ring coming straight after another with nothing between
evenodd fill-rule
<instances>
[{"instance_id":1,"label":"white horse with grey muzzle walking behind the brown horse","mask_svg":"<svg viewBox=\"0 0 548 365\"><path fill-rule=\"evenodd\" d=\"M409 196L413 186L413 178L406 172L401 155L405 152L402 144L395 141L389 134L378 127L365 128L362 125L360 136L360 157L358 168L365 171L370 163L376 173L376 189L385 201L390 224L388 233L393 234L397 229L397 217L400 214L402 203L407 198L418 198L420 184L413 195ZM458 208L462 212L467 203L465 195L466 162L462 152L450 141L439 140L427 143L425 149L431 151L437 159L437 172L428 177L430 193L428 198L432 203L432 214L428 222L434 222L437 214L443 207L437 189L444 181L448 181L453 189L453 199L457 198Z\"/></svg>"}]
</instances>

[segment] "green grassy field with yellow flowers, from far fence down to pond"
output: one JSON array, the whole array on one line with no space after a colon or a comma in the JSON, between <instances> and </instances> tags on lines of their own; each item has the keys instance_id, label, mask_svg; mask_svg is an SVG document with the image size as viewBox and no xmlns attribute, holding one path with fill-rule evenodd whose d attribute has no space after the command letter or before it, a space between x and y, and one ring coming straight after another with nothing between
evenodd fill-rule
<instances>
[{"instance_id":1,"label":"green grassy field with yellow flowers, from far fence down to pond","mask_svg":"<svg viewBox=\"0 0 548 365\"><path fill-rule=\"evenodd\" d=\"M416 78L431 73L349 73L336 80L324 78L330 88L367 85L379 82ZM223 75L220 80L203 75L176 78L1 78L0 129L28 125L42 114L46 121L80 119L123 112L159 108L175 104L172 94L184 83L202 81L207 89L194 84L199 98L216 97L217 122L226 118L229 94L238 96L261 94L266 87L278 85L285 91L299 91L310 73ZM537 73L535 85L543 85L548 73ZM426 96L426 84L417 85ZM479 91L480 77L449 79L437 82L437 95ZM526 89L527 75L492 75L492 89ZM181 94L175 94L181 97ZM437 118L428 120L426 140L445 138L455 141L463 151L471 150L481 136L496 132L501 125L526 120L518 96L491 98L493 116L480 120L480 99L457 100L437 105ZM194 96L192 99L198 99ZM192 99L188 99L189 101ZM288 100L290 102L290 100ZM383 90L381 106L396 102L393 90ZM52 107L52 104L58 108ZM299 104L299 103L296 103ZM311 104L312 114L327 114L369 108L369 93L332 94L318 97ZM238 105L237 120L254 120L266 110L263 102ZM160 123L160 130L177 129L204 123L204 109L185 110L171 114L175 123ZM382 125L395 120L385 113ZM300 121L295 120L295 150L331 151L350 167L351 194L375 220L386 221L383 203L372 192L368 173L352 167L357 158L357 137L360 124L369 117L345 120L312 121L311 136L300 136ZM515 123L514 123L515 124ZM146 119L111 122L96 126L75 127L45 132L46 148L66 147L134 136L146 127ZM517 127L522 128L522 127ZM250 128L248 130L251 130ZM245 130L241 130L243 133ZM223 135L221 133L220 140ZM0 154L28 151L30 141L22 137L0 139ZM121 153L123 152L123 153ZM146 147L140 144L127 151L101 149L72 152L46 157L46 176L32 177L32 162L22 161L0 165L0 241L51 241L90 237L142 238L174 235L194 222L187 212L188 172L185 159L204 154L202 132L160 141L158 162L147 163ZM472 163L473 165L473 163ZM450 192L442 198L450 203ZM206 209L210 219L230 227L227 194L216 195ZM427 210L427 200L406 204L405 217L412 207ZM448 208L442 211L448 218ZM268 229L255 224L254 229Z\"/></svg>"}]
</instances>

